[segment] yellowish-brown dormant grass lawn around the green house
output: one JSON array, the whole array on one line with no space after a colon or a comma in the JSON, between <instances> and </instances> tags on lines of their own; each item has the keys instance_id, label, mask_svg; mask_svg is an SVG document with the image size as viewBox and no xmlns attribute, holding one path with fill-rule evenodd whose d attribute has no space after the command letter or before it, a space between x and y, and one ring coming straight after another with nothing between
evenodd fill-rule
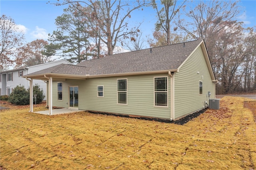
<instances>
[{"instance_id":1,"label":"yellowish-brown dormant grass lawn around the green house","mask_svg":"<svg viewBox=\"0 0 256 170\"><path fill-rule=\"evenodd\" d=\"M255 170L256 122L244 101L253 100L224 97L220 110L208 109L185 125L87 112L47 116L28 113L29 108L4 110L0 169Z\"/></svg>"}]
</instances>

